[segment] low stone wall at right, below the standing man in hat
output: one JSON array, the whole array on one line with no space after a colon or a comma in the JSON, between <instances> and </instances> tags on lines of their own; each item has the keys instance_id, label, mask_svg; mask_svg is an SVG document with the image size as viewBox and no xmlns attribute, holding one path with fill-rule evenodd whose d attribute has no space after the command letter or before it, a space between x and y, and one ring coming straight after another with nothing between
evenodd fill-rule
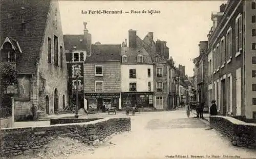
<instances>
[{"instance_id":1,"label":"low stone wall at right, below the standing man in hat","mask_svg":"<svg viewBox=\"0 0 256 159\"><path fill-rule=\"evenodd\" d=\"M210 126L223 133L233 145L256 148L256 124L232 117L210 116Z\"/></svg>"}]
</instances>

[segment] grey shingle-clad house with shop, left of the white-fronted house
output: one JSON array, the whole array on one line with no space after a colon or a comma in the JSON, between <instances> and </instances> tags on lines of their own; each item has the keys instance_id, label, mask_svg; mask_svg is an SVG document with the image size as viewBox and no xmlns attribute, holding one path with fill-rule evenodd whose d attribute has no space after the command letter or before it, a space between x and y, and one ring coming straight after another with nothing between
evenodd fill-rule
<instances>
[{"instance_id":1,"label":"grey shingle-clad house with shop, left of the white-fronted house","mask_svg":"<svg viewBox=\"0 0 256 159\"><path fill-rule=\"evenodd\" d=\"M92 44L83 67L86 109L102 110L103 104L121 109L120 53L121 44Z\"/></svg>"}]
</instances>

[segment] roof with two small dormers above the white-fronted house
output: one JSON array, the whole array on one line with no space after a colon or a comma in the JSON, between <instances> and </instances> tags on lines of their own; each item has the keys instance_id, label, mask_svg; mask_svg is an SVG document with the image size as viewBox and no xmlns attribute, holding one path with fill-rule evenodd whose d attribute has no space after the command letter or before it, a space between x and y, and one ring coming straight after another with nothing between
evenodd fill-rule
<instances>
[{"instance_id":1,"label":"roof with two small dormers above the white-fronted house","mask_svg":"<svg viewBox=\"0 0 256 159\"><path fill-rule=\"evenodd\" d=\"M143 56L143 62L144 64L151 64L152 60L150 55L146 52L146 50L142 47L137 47L137 48L129 48L129 47L122 47L121 48L121 55L126 55L127 56L127 63L133 63L137 64L137 57L138 55Z\"/></svg>"}]
</instances>

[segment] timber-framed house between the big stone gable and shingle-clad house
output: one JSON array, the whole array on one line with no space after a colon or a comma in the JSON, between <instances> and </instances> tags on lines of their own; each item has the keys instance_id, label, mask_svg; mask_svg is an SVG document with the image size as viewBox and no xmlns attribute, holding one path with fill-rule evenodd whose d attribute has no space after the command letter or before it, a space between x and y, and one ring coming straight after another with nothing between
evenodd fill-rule
<instances>
[{"instance_id":1,"label":"timber-framed house between the big stone gable and shingle-clad house","mask_svg":"<svg viewBox=\"0 0 256 159\"><path fill-rule=\"evenodd\" d=\"M84 104L83 98L83 65L86 60L87 55L91 54L91 34L87 29L87 22L83 22L84 30L83 34L63 35L66 59L67 59L67 69L68 69L68 94L69 103L73 102L76 104L76 87L78 86L78 108L87 108ZM74 71L78 67L80 74ZM77 83L76 83L77 78Z\"/></svg>"}]
</instances>

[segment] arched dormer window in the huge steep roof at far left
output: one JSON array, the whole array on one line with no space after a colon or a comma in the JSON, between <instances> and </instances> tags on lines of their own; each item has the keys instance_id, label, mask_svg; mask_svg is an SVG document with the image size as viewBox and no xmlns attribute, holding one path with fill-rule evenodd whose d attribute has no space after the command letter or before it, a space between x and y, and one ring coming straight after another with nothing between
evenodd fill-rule
<instances>
[{"instance_id":1,"label":"arched dormer window in the huge steep roof at far left","mask_svg":"<svg viewBox=\"0 0 256 159\"><path fill-rule=\"evenodd\" d=\"M2 49L3 62L15 62L15 53L10 42L5 42Z\"/></svg>"}]
</instances>

